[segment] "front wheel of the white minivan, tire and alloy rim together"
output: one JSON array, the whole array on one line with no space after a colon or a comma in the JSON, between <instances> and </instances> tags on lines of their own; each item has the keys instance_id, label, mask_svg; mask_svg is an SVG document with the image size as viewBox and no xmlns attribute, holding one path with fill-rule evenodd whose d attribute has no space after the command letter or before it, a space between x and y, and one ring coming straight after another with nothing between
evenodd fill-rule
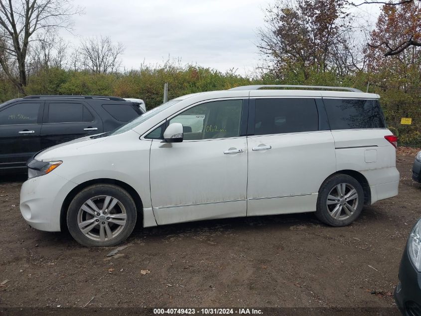
<instances>
[{"instance_id":1,"label":"front wheel of the white minivan, tire and alloy rim together","mask_svg":"<svg viewBox=\"0 0 421 316\"><path fill-rule=\"evenodd\" d=\"M67 227L83 246L109 247L132 234L136 218L136 205L129 193L116 185L96 184L73 198L67 211Z\"/></svg>"}]
</instances>

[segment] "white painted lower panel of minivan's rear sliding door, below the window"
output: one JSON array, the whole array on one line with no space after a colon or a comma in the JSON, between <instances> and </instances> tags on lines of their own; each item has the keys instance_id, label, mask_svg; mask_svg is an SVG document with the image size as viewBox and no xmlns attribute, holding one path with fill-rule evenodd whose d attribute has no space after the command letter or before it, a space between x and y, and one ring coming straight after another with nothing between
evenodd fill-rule
<instances>
[{"instance_id":1,"label":"white painted lower panel of minivan's rear sliding door, below the window","mask_svg":"<svg viewBox=\"0 0 421 316\"><path fill-rule=\"evenodd\" d=\"M330 131L250 136L248 145L247 215L316 210L321 183L336 171Z\"/></svg>"}]
</instances>

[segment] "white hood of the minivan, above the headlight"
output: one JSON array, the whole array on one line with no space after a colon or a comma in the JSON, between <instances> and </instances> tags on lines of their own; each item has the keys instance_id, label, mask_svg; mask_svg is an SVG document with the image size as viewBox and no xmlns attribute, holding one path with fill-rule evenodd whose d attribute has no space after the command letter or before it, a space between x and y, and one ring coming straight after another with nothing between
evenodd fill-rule
<instances>
[{"instance_id":1,"label":"white hood of the minivan, above the headlight","mask_svg":"<svg viewBox=\"0 0 421 316\"><path fill-rule=\"evenodd\" d=\"M68 156L68 154L72 152L74 153L74 151L76 151L77 149L81 147L100 143L108 138L108 137L101 137L101 138L92 139L91 138L92 136L96 136L96 135L85 136L85 137L78 138L66 143L49 147L39 152L38 154L36 154L34 158L39 161L58 160L60 159L60 157Z\"/></svg>"}]
</instances>

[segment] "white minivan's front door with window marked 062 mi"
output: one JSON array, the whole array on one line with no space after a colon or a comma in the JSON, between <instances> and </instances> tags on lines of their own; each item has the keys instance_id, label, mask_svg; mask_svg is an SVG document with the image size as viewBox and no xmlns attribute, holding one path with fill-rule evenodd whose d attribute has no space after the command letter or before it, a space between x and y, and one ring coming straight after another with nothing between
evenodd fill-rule
<instances>
[{"instance_id":1,"label":"white minivan's front door with window marked 062 mi","mask_svg":"<svg viewBox=\"0 0 421 316\"><path fill-rule=\"evenodd\" d=\"M246 216L247 103L195 105L167 122L183 124L183 142L152 141L150 191L158 225Z\"/></svg>"}]
</instances>

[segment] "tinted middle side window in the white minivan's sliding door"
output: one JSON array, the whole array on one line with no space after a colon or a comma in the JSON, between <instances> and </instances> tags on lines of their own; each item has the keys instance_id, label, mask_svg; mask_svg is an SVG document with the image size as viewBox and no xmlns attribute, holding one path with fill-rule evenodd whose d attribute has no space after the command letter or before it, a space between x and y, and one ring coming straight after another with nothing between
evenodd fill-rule
<instances>
[{"instance_id":1,"label":"tinted middle side window in the white minivan's sliding door","mask_svg":"<svg viewBox=\"0 0 421 316\"><path fill-rule=\"evenodd\" d=\"M317 130L314 99L256 99L255 135Z\"/></svg>"}]
</instances>

